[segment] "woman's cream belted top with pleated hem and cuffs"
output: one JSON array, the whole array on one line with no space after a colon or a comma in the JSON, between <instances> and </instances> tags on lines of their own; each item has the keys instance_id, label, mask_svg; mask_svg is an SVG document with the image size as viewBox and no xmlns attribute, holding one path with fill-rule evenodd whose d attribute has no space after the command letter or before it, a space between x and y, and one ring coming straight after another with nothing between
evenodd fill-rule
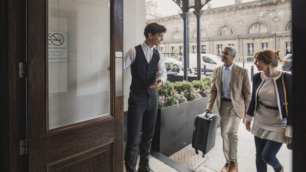
<instances>
[{"instance_id":1,"label":"woman's cream belted top with pleated hem and cuffs","mask_svg":"<svg viewBox=\"0 0 306 172\"><path fill-rule=\"evenodd\" d=\"M257 93L258 100L260 102L268 106L277 107L277 96L276 90L274 89L273 78L279 78L281 75L282 72L275 77L267 77L265 74L263 74L264 82ZM287 120L278 118L279 111L265 108L259 102L258 104L259 106L256 108L254 114L254 122L251 133L256 137L273 140L280 143L286 143L285 133L286 136L292 138L292 134L290 134L292 132L287 131L289 129L286 128ZM251 116L247 115L246 120L251 121ZM291 127L289 128L290 130L292 129Z\"/></svg>"}]
</instances>

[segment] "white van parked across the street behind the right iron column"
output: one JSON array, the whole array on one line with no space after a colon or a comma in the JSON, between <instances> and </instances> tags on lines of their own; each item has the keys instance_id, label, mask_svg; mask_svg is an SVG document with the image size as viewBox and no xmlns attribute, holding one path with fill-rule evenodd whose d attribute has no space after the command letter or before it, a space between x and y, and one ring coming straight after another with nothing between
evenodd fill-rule
<instances>
[{"instance_id":1,"label":"white van parked across the street behind the right iron column","mask_svg":"<svg viewBox=\"0 0 306 172\"><path fill-rule=\"evenodd\" d=\"M201 68L206 65L206 69L213 72L213 69L223 65L221 58L213 54L203 54L201 53ZM189 67L197 68L197 54L189 54Z\"/></svg>"}]
</instances>

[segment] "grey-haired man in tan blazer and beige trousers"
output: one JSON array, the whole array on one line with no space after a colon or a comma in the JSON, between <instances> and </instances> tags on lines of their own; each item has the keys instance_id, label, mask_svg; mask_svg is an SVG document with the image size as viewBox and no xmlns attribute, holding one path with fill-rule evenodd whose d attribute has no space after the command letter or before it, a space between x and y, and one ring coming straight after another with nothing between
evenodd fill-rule
<instances>
[{"instance_id":1,"label":"grey-haired man in tan blazer and beige trousers","mask_svg":"<svg viewBox=\"0 0 306 172\"><path fill-rule=\"evenodd\" d=\"M241 119L245 118L252 95L248 70L233 62L236 54L235 47L224 47L221 55L224 65L214 69L209 102L205 109L211 113L217 98L223 152L226 159L221 172L238 172L237 131Z\"/></svg>"}]
</instances>

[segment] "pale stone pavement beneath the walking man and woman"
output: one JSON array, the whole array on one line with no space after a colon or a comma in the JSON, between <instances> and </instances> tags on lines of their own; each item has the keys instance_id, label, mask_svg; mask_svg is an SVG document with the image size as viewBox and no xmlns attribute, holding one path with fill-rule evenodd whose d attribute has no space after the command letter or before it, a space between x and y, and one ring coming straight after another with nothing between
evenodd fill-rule
<instances>
[{"instance_id":1,"label":"pale stone pavement beneath the walking man and woman","mask_svg":"<svg viewBox=\"0 0 306 172\"><path fill-rule=\"evenodd\" d=\"M220 133L221 133L220 128L218 128L214 148L210 150L208 154L205 155L203 163L194 165L195 168L193 170L197 172L221 171L222 167L225 164L225 158L222 151L222 138ZM242 123L242 120L240 122L238 130L238 137L239 137L239 144L238 144L239 171L256 172L256 164L255 164L256 150L255 150L254 136L245 129L245 125ZM189 153L193 153L194 155L196 155L191 145L188 145L181 151L185 152L187 151ZM171 157L173 156L174 155L172 155ZM281 164L284 165L284 171L286 172L292 171L292 150L287 149L285 144L283 144L282 148L279 150L277 154L277 159L280 161ZM273 168L269 165L268 165L268 172L274 172Z\"/></svg>"}]
</instances>

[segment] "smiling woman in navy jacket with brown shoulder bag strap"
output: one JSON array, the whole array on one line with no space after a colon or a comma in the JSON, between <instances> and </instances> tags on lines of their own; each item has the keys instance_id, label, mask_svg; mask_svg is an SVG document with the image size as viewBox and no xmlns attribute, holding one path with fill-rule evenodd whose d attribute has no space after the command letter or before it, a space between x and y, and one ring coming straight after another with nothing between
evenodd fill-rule
<instances>
[{"instance_id":1,"label":"smiling woman in navy jacket with brown shoulder bag strap","mask_svg":"<svg viewBox=\"0 0 306 172\"><path fill-rule=\"evenodd\" d=\"M257 172L283 171L276 158L282 143L292 143L292 75L276 69L279 50L262 50L254 55L259 73L252 76L252 98L245 127L255 138ZM253 121L251 128L251 121Z\"/></svg>"}]
</instances>

